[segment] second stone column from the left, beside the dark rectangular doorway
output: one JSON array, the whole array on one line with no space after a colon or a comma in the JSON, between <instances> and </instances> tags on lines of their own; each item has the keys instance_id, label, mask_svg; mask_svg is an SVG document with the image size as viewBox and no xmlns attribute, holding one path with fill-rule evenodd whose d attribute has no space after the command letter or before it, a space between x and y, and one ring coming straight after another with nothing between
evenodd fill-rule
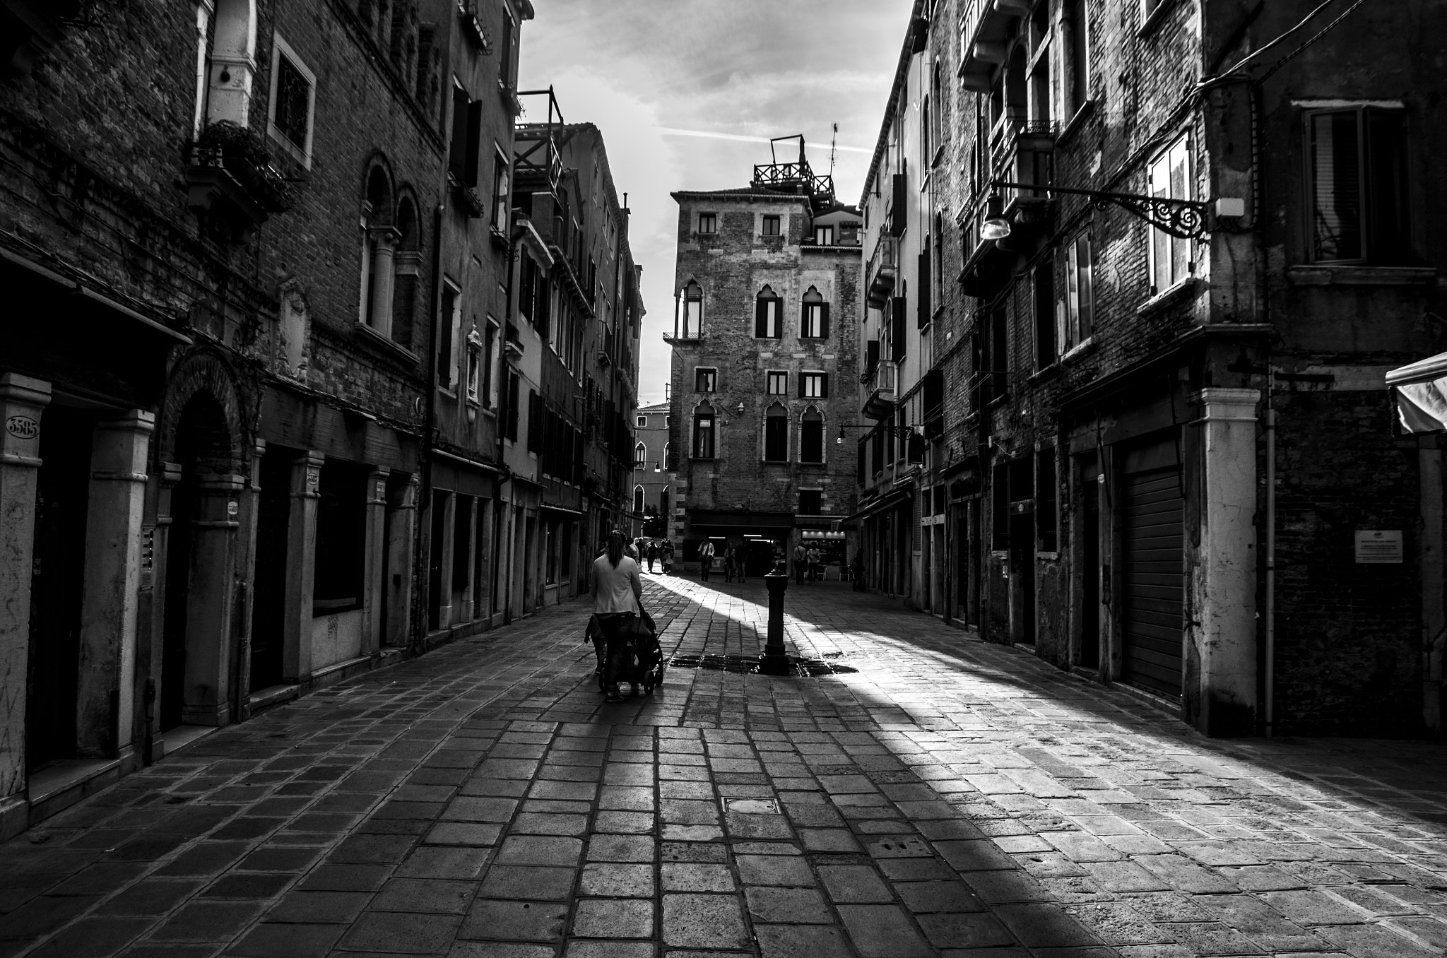
<instances>
[{"instance_id":1,"label":"second stone column from the left, beside the dark rectangular doorway","mask_svg":"<svg viewBox=\"0 0 1447 958\"><path fill-rule=\"evenodd\" d=\"M140 524L155 427L153 412L130 410L97 423L91 440L75 695L75 753L87 758L132 750Z\"/></svg>"}]
</instances>

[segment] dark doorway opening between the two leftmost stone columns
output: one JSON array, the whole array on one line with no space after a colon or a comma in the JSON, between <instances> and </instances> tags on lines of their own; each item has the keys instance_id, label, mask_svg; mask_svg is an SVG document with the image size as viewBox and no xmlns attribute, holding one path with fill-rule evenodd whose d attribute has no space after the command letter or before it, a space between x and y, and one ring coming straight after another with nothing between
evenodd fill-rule
<instances>
[{"instance_id":1,"label":"dark doorway opening between the two leftmost stone columns","mask_svg":"<svg viewBox=\"0 0 1447 958\"><path fill-rule=\"evenodd\" d=\"M35 768L75 757L85 585L85 517L94 417L51 405L41 417L25 758Z\"/></svg>"}]
</instances>

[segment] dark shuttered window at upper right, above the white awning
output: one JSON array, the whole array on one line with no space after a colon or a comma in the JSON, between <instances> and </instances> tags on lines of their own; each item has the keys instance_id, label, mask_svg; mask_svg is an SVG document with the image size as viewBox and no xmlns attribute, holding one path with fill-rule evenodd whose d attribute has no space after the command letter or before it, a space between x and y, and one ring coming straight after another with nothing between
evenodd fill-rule
<instances>
[{"instance_id":1,"label":"dark shuttered window at upper right, above the white awning","mask_svg":"<svg viewBox=\"0 0 1447 958\"><path fill-rule=\"evenodd\" d=\"M1311 259L1409 260L1406 127L1402 110L1307 114Z\"/></svg>"}]
</instances>

